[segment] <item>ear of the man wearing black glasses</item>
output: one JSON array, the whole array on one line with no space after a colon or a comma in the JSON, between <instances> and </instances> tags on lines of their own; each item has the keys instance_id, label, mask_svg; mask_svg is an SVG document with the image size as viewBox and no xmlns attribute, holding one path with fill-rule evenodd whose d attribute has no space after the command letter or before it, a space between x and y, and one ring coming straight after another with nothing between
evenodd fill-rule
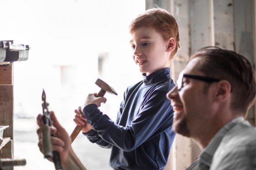
<instances>
[{"instance_id":1,"label":"ear of the man wearing black glasses","mask_svg":"<svg viewBox=\"0 0 256 170\"><path fill-rule=\"evenodd\" d=\"M220 80L217 85L216 100L225 100L231 93L231 85L227 80Z\"/></svg>"}]
</instances>

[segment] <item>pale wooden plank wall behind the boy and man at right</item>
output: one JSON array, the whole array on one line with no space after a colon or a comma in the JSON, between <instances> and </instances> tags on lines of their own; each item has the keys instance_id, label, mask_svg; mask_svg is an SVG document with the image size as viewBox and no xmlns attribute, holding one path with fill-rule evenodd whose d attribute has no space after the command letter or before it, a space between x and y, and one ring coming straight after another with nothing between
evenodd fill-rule
<instances>
[{"instance_id":1,"label":"pale wooden plank wall behind the boy and man at right","mask_svg":"<svg viewBox=\"0 0 256 170\"><path fill-rule=\"evenodd\" d=\"M255 0L145 0L146 9L154 4L174 15L180 31L181 50L171 64L171 77L186 66L189 56L203 46L215 45L235 50L256 65ZM256 105L247 120L256 125ZM165 170L185 170L197 159L200 148L191 139L176 135Z\"/></svg>"}]
</instances>

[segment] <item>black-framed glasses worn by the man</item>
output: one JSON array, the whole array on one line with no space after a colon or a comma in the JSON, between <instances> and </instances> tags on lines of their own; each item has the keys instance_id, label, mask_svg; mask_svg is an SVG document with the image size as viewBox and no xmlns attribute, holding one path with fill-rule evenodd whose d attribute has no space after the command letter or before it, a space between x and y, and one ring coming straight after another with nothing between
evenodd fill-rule
<instances>
[{"instance_id":1,"label":"black-framed glasses worn by the man","mask_svg":"<svg viewBox=\"0 0 256 170\"><path fill-rule=\"evenodd\" d=\"M177 80L177 90L180 91L183 87L183 78L190 78L190 79L195 79L195 80L200 80L200 81L204 81L204 82L208 82L208 83L212 83L212 82L219 82L219 79L215 79L212 77L206 77L206 76L202 76L202 75L188 75L188 74L183 74L180 75L178 80Z\"/></svg>"}]
</instances>

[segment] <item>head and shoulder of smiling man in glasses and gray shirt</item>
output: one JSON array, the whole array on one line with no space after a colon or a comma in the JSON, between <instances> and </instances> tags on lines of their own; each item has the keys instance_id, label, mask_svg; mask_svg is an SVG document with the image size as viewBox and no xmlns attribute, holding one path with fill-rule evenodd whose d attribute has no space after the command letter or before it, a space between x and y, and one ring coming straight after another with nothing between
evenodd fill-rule
<instances>
[{"instance_id":1,"label":"head and shoulder of smiling man in glasses and gray shirt","mask_svg":"<svg viewBox=\"0 0 256 170\"><path fill-rule=\"evenodd\" d=\"M187 170L255 170L256 129L246 117L256 94L244 56L217 47L198 50L167 94L173 129L201 147Z\"/></svg>"}]
</instances>

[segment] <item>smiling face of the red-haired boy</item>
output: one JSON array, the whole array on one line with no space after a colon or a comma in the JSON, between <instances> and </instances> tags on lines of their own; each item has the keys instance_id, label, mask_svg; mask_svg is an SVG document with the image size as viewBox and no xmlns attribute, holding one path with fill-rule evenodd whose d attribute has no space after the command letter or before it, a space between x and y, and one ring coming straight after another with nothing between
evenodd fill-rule
<instances>
[{"instance_id":1,"label":"smiling face of the red-haired boy","mask_svg":"<svg viewBox=\"0 0 256 170\"><path fill-rule=\"evenodd\" d=\"M151 27L140 27L131 33L130 44L133 60L141 73L149 75L156 70L170 67L168 41Z\"/></svg>"}]
</instances>

